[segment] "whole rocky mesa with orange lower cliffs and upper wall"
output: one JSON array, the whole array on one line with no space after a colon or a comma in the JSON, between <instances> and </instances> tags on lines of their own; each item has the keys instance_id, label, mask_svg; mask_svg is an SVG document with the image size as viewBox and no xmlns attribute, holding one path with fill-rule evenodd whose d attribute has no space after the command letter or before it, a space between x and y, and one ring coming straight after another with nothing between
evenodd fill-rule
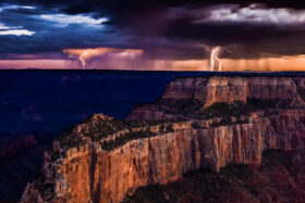
<instances>
[{"instance_id":1,"label":"whole rocky mesa with orange lower cliffs and upper wall","mask_svg":"<svg viewBox=\"0 0 305 203\"><path fill-rule=\"evenodd\" d=\"M176 78L125 120L95 114L65 130L21 202L122 202L203 168L259 168L269 150L304 149L304 99L302 77Z\"/></svg>"}]
</instances>

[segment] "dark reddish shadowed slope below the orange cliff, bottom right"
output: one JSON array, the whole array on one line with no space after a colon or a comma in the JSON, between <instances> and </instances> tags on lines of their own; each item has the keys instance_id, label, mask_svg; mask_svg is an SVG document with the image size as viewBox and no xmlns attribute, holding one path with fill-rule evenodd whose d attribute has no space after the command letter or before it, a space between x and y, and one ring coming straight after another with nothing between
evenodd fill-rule
<instances>
[{"instance_id":1,"label":"dark reddish shadowed slope below the orange cliff, bottom right","mask_svg":"<svg viewBox=\"0 0 305 203\"><path fill-rule=\"evenodd\" d=\"M305 151L266 151L260 167L229 165L197 170L174 182L142 187L124 202L302 202Z\"/></svg>"}]
</instances>

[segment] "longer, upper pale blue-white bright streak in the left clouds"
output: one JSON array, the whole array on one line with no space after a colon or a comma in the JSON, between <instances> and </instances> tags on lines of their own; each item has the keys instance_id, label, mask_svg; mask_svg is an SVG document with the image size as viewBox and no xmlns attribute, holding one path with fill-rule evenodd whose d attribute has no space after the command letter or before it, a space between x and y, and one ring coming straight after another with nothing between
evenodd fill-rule
<instances>
[{"instance_id":1,"label":"longer, upper pale blue-white bright streak in the left clouds","mask_svg":"<svg viewBox=\"0 0 305 203\"><path fill-rule=\"evenodd\" d=\"M40 17L45 21L56 22L58 26L63 27L70 24L100 25L108 22L107 17L93 18L89 15L42 14Z\"/></svg>"}]
</instances>

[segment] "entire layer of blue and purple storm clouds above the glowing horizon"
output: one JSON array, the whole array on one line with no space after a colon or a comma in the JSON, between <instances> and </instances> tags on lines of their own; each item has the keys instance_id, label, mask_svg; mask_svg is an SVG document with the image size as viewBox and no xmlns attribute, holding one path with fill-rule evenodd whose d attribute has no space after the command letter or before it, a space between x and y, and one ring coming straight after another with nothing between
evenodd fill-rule
<instances>
[{"instance_id":1,"label":"entire layer of blue and purple storm clouds above the glowing horizon","mask_svg":"<svg viewBox=\"0 0 305 203\"><path fill-rule=\"evenodd\" d=\"M228 58L305 53L303 50L305 2L279 0L216 0L212 3L203 0L0 2L2 9L10 5L24 7L3 9L0 13L0 23L3 26L10 30L35 33L0 36L2 59L12 58L14 54L59 53L64 48L95 47L137 48L144 49L148 58L179 60L207 58L209 51L207 47L212 46L223 46L233 50L234 54L224 53ZM84 23L73 23L77 21L77 16L88 18L82 20ZM93 25L94 20L102 17L108 21Z\"/></svg>"}]
</instances>

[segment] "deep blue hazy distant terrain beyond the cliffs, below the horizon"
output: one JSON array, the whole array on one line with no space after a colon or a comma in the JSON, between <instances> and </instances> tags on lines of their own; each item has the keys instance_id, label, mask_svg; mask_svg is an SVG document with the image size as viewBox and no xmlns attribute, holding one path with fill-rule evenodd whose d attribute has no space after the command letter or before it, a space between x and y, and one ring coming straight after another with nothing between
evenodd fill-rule
<instances>
[{"instance_id":1,"label":"deep blue hazy distant terrain beyond the cliffs, below the horizon","mask_svg":"<svg viewBox=\"0 0 305 203\"><path fill-rule=\"evenodd\" d=\"M0 135L57 136L93 113L124 118L185 72L2 71ZM0 136L1 137L1 136ZM50 140L47 140L48 142Z\"/></svg>"}]
</instances>

